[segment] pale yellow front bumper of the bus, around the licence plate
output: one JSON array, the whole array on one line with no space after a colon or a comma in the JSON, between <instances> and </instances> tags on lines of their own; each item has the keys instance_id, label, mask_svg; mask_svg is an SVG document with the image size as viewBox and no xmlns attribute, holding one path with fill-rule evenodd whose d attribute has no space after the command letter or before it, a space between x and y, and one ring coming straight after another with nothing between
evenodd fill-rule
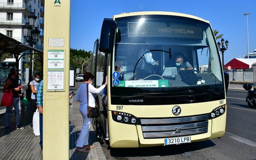
<instances>
[{"instance_id":1,"label":"pale yellow front bumper of the bus, around the licence plate","mask_svg":"<svg viewBox=\"0 0 256 160\"><path fill-rule=\"evenodd\" d=\"M127 125L115 122L109 118L110 146L113 148L133 148L133 147L150 147L164 146L165 138L144 139L140 125ZM222 137L225 134L226 113L214 119L208 120L208 131L197 135L188 135L191 142L205 141Z\"/></svg>"}]
</instances>

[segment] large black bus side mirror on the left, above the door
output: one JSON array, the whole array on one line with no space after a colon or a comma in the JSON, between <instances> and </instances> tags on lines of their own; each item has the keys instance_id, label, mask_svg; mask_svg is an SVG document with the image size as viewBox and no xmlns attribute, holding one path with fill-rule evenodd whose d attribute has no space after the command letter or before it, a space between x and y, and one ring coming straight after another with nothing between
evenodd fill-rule
<instances>
[{"instance_id":1,"label":"large black bus side mirror on the left, above the door","mask_svg":"<svg viewBox=\"0 0 256 160\"><path fill-rule=\"evenodd\" d=\"M112 53L114 47L114 35L117 23L113 19L104 18L100 33L99 51Z\"/></svg>"}]
</instances>

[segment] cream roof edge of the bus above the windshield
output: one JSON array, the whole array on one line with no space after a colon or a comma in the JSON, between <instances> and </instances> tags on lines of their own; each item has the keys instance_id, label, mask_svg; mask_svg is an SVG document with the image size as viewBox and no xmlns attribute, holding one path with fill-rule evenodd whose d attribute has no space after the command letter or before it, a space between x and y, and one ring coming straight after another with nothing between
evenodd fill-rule
<instances>
[{"instance_id":1,"label":"cream roof edge of the bus above the windshield","mask_svg":"<svg viewBox=\"0 0 256 160\"><path fill-rule=\"evenodd\" d=\"M206 23L210 23L208 20L204 20L203 18L199 18L193 15L184 14L184 13L176 13L176 12L162 12L162 11L146 11L146 12L130 12L130 13L121 13L113 16L113 19L120 17L128 17L128 16L138 16L138 15L170 15L170 16L181 16L188 17L197 20L204 21Z\"/></svg>"}]
</instances>

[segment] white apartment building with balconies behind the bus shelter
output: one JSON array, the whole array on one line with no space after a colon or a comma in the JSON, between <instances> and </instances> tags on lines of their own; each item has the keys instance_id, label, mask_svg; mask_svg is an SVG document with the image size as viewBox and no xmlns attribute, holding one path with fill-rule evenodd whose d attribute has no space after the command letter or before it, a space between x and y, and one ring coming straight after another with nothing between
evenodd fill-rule
<instances>
[{"instance_id":1,"label":"white apartment building with balconies behind the bus shelter","mask_svg":"<svg viewBox=\"0 0 256 160\"><path fill-rule=\"evenodd\" d=\"M35 48L43 50L43 28L44 28L44 0L0 0L0 32L26 43L23 38L23 26L28 22L28 15L34 13L37 16L35 27L41 31L39 41ZM27 51L26 53L29 53ZM25 64L27 57L24 56L19 61L19 69L22 74L22 81L26 80ZM5 80L10 67L14 67L15 58L8 58L0 64L1 84ZM28 75L28 73L27 73Z\"/></svg>"}]
</instances>

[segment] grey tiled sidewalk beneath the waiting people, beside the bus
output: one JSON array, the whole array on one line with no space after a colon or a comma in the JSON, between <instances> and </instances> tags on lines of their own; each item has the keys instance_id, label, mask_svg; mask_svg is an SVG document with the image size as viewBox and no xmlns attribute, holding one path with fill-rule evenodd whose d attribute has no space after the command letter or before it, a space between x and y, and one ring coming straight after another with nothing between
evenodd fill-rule
<instances>
[{"instance_id":1,"label":"grey tiled sidewalk beneath the waiting people, beside the bus","mask_svg":"<svg viewBox=\"0 0 256 160\"><path fill-rule=\"evenodd\" d=\"M76 92L76 91L74 91ZM83 119L79 112L79 102L73 97L73 107L70 108L70 126L69 126L69 158L70 160L106 160L96 133L91 127L89 144L95 148L88 153L77 154L76 140L79 137ZM33 130L29 128L29 115L31 113L30 104L22 109L20 115L20 124L25 129L14 130L15 113L14 110L10 115L11 132L4 131L4 113L0 114L0 160L42 160L43 154L39 146L40 136L35 136Z\"/></svg>"}]
</instances>

